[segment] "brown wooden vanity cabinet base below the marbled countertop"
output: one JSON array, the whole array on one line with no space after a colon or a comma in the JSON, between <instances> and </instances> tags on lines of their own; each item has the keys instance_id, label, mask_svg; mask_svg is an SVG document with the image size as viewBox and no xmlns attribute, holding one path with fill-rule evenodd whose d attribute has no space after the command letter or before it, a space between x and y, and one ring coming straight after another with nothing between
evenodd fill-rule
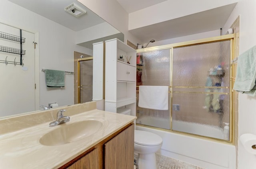
<instances>
[{"instance_id":1,"label":"brown wooden vanity cabinet base below the marbled countertop","mask_svg":"<svg viewBox=\"0 0 256 169\"><path fill-rule=\"evenodd\" d=\"M120 134L119 131L112 134L60 169L66 169L67 166L68 169L133 169L134 124L128 128L125 126L120 131Z\"/></svg>"}]
</instances>

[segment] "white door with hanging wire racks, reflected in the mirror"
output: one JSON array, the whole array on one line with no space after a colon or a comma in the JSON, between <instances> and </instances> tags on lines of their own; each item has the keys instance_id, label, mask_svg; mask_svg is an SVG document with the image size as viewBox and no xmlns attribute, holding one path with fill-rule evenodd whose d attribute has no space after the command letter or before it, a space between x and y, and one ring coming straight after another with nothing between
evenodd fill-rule
<instances>
[{"instance_id":1,"label":"white door with hanging wire racks, reflected in the mirror","mask_svg":"<svg viewBox=\"0 0 256 169\"><path fill-rule=\"evenodd\" d=\"M11 26L0 24L0 31L8 37L20 37L20 29ZM26 38L22 43L22 49L26 51L22 55L24 67L19 64L19 54L0 50L0 117L35 110L34 34L22 30L22 37ZM0 46L20 49L20 42L0 38ZM10 64L14 61L18 63Z\"/></svg>"}]
</instances>

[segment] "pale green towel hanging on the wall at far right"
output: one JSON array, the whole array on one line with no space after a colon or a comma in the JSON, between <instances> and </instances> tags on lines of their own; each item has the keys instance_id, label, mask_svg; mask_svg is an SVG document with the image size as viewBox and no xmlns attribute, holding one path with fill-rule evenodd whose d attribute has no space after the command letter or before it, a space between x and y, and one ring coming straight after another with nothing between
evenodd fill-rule
<instances>
[{"instance_id":1,"label":"pale green towel hanging on the wall at far right","mask_svg":"<svg viewBox=\"0 0 256 169\"><path fill-rule=\"evenodd\" d=\"M256 46L245 51L238 57L234 90L255 96L256 81Z\"/></svg>"}]
</instances>

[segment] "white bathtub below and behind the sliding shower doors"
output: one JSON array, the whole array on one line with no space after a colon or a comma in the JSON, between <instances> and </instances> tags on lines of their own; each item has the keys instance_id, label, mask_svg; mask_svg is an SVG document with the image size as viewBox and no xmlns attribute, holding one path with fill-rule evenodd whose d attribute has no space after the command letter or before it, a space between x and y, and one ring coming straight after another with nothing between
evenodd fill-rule
<instances>
[{"instance_id":1,"label":"white bathtub below and behind the sliding shower doors","mask_svg":"<svg viewBox=\"0 0 256 169\"><path fill-rule=\"evenodd\" d=\"M136 122L148 124L149 121L153 120L153 117L147 118L148 117L138 118ZM168 120L164 118L155 118L154 122L157 121L159 121L161 125L164 125L164 122L168 122ZM205 129L206 126L203 126L204 128L202 130L202 124L182 121L173 121L173 123L175 130L193 132L199 135L204 134L208 137L223 139L223 131L218 128L209 127L208 130ZM136 130L144 130L161 136L163 145L158 152L161 155L185 161L205 169L236 169L236 148L232 144L139 125L136 125Z\"/></svg>"}]
</instances>

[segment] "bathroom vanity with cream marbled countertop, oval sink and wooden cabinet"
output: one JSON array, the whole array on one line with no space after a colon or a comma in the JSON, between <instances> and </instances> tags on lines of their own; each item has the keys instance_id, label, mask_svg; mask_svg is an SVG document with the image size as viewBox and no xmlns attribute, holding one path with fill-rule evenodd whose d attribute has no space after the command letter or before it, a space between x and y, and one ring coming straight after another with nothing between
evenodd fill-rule
<instances>
[{"instance_id":1,"label":"bathroom vanity with cream marbled countertop, oval sink and wooden cabinet","mask_svg":"<svg viewBox=\"0 0 256 169\"><path fill-rule=\"evenodd\" d=\"M49 127L60 109L70 122ZM1 119L0 168L133 169L135 119L96 102Z\"/></svg>"}]
</instances>

